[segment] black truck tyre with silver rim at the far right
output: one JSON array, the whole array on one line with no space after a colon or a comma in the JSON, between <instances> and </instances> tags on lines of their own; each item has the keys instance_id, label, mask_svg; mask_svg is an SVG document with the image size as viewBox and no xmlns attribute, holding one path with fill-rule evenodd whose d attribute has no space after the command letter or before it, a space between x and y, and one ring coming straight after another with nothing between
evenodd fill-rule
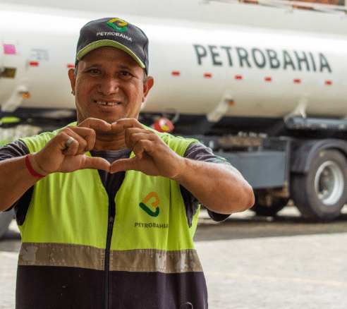
<instances>
[{"instance_id":1,"label":"black truck tyre with silver rim at the far right","mask_svg":"<svg viewBox=\"0 0 347 309\"><path fill-rule=\"evenodd\" d=\"M303 217L331 220L347 201L347 162L338 150L322 150L307 174L291 175L292 198Z\"/></svg>"}]
</instances>

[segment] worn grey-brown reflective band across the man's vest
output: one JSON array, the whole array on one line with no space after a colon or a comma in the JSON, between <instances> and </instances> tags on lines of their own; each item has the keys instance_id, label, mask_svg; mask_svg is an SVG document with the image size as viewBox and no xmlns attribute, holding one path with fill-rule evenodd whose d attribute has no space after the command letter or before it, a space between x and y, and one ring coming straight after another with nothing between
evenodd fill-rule
<instances>
[{"instance_id":1,"label":"worn grey-brown reflective band across the man's vest","mask_svg":"<svg viewBox=\"0 0 347 309\"><path fill-rule=\"evenodd\" d=\"M23 243L18 265L63 266L104 270L105 250L68 243ZM202 272L194 249L111 250L110 270L126 272Z\"/></svg>"}]
</instances>

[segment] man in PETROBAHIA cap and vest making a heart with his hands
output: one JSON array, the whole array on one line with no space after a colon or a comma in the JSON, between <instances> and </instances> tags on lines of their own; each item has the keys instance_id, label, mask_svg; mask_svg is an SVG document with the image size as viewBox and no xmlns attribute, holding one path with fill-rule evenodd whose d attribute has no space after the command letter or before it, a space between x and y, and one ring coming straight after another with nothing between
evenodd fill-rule
<instances>
[{"instance_id":1,"label":"man in PETROBAHIA cap and vest making a heart with his hands","mask_svg":"<svg viewBox=\"0 0 347 309\"><path fill-rule=\"evenodd\" d=\"M197 200L221 221L254 196L196 140L138 122L147 55L134 25L87 23L68 72L77 123L1 149L0 210L14 207L22 236L17 308L207 308Z\"/></svg>"}]
</instances>

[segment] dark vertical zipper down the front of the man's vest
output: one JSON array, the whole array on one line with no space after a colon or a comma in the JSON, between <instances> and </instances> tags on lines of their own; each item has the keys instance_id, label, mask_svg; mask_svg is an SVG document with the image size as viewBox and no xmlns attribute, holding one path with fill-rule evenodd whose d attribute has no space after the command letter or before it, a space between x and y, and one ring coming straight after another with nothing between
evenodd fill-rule
<instances>
[{"instance_id":1,"label":"dark vertical zipper down the front of the man's vest","mask_svg":"<svg viewBox=\"0 0 347 309\"><path fill-rule=\"evenodd\" d=\"M109 309L109 255L112 240L112 230L114 229L114 217L116 215L116 205L114 200L109 200L109 224L107 226L105 265L104 265L104 309Z\"/></svg>"}]
</instances>

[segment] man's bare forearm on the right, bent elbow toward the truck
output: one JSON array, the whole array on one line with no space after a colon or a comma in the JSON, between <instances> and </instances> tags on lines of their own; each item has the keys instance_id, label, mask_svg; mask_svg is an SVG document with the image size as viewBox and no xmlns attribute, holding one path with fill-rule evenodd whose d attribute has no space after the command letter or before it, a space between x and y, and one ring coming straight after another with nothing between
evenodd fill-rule
<instances>
[{"instance_id":1,"label":"man's bare forearm on the right, bent elbow toward the truck","mask_svg":"<svg viewBox=\"0 0 347 309\"><path fill-rule=\"evenodd\" d=\"M240 172L226 164L183 158L183 173L173 180L213 212L243 212L254 204L252 187Z\"/></svg>"}]
</instances>

